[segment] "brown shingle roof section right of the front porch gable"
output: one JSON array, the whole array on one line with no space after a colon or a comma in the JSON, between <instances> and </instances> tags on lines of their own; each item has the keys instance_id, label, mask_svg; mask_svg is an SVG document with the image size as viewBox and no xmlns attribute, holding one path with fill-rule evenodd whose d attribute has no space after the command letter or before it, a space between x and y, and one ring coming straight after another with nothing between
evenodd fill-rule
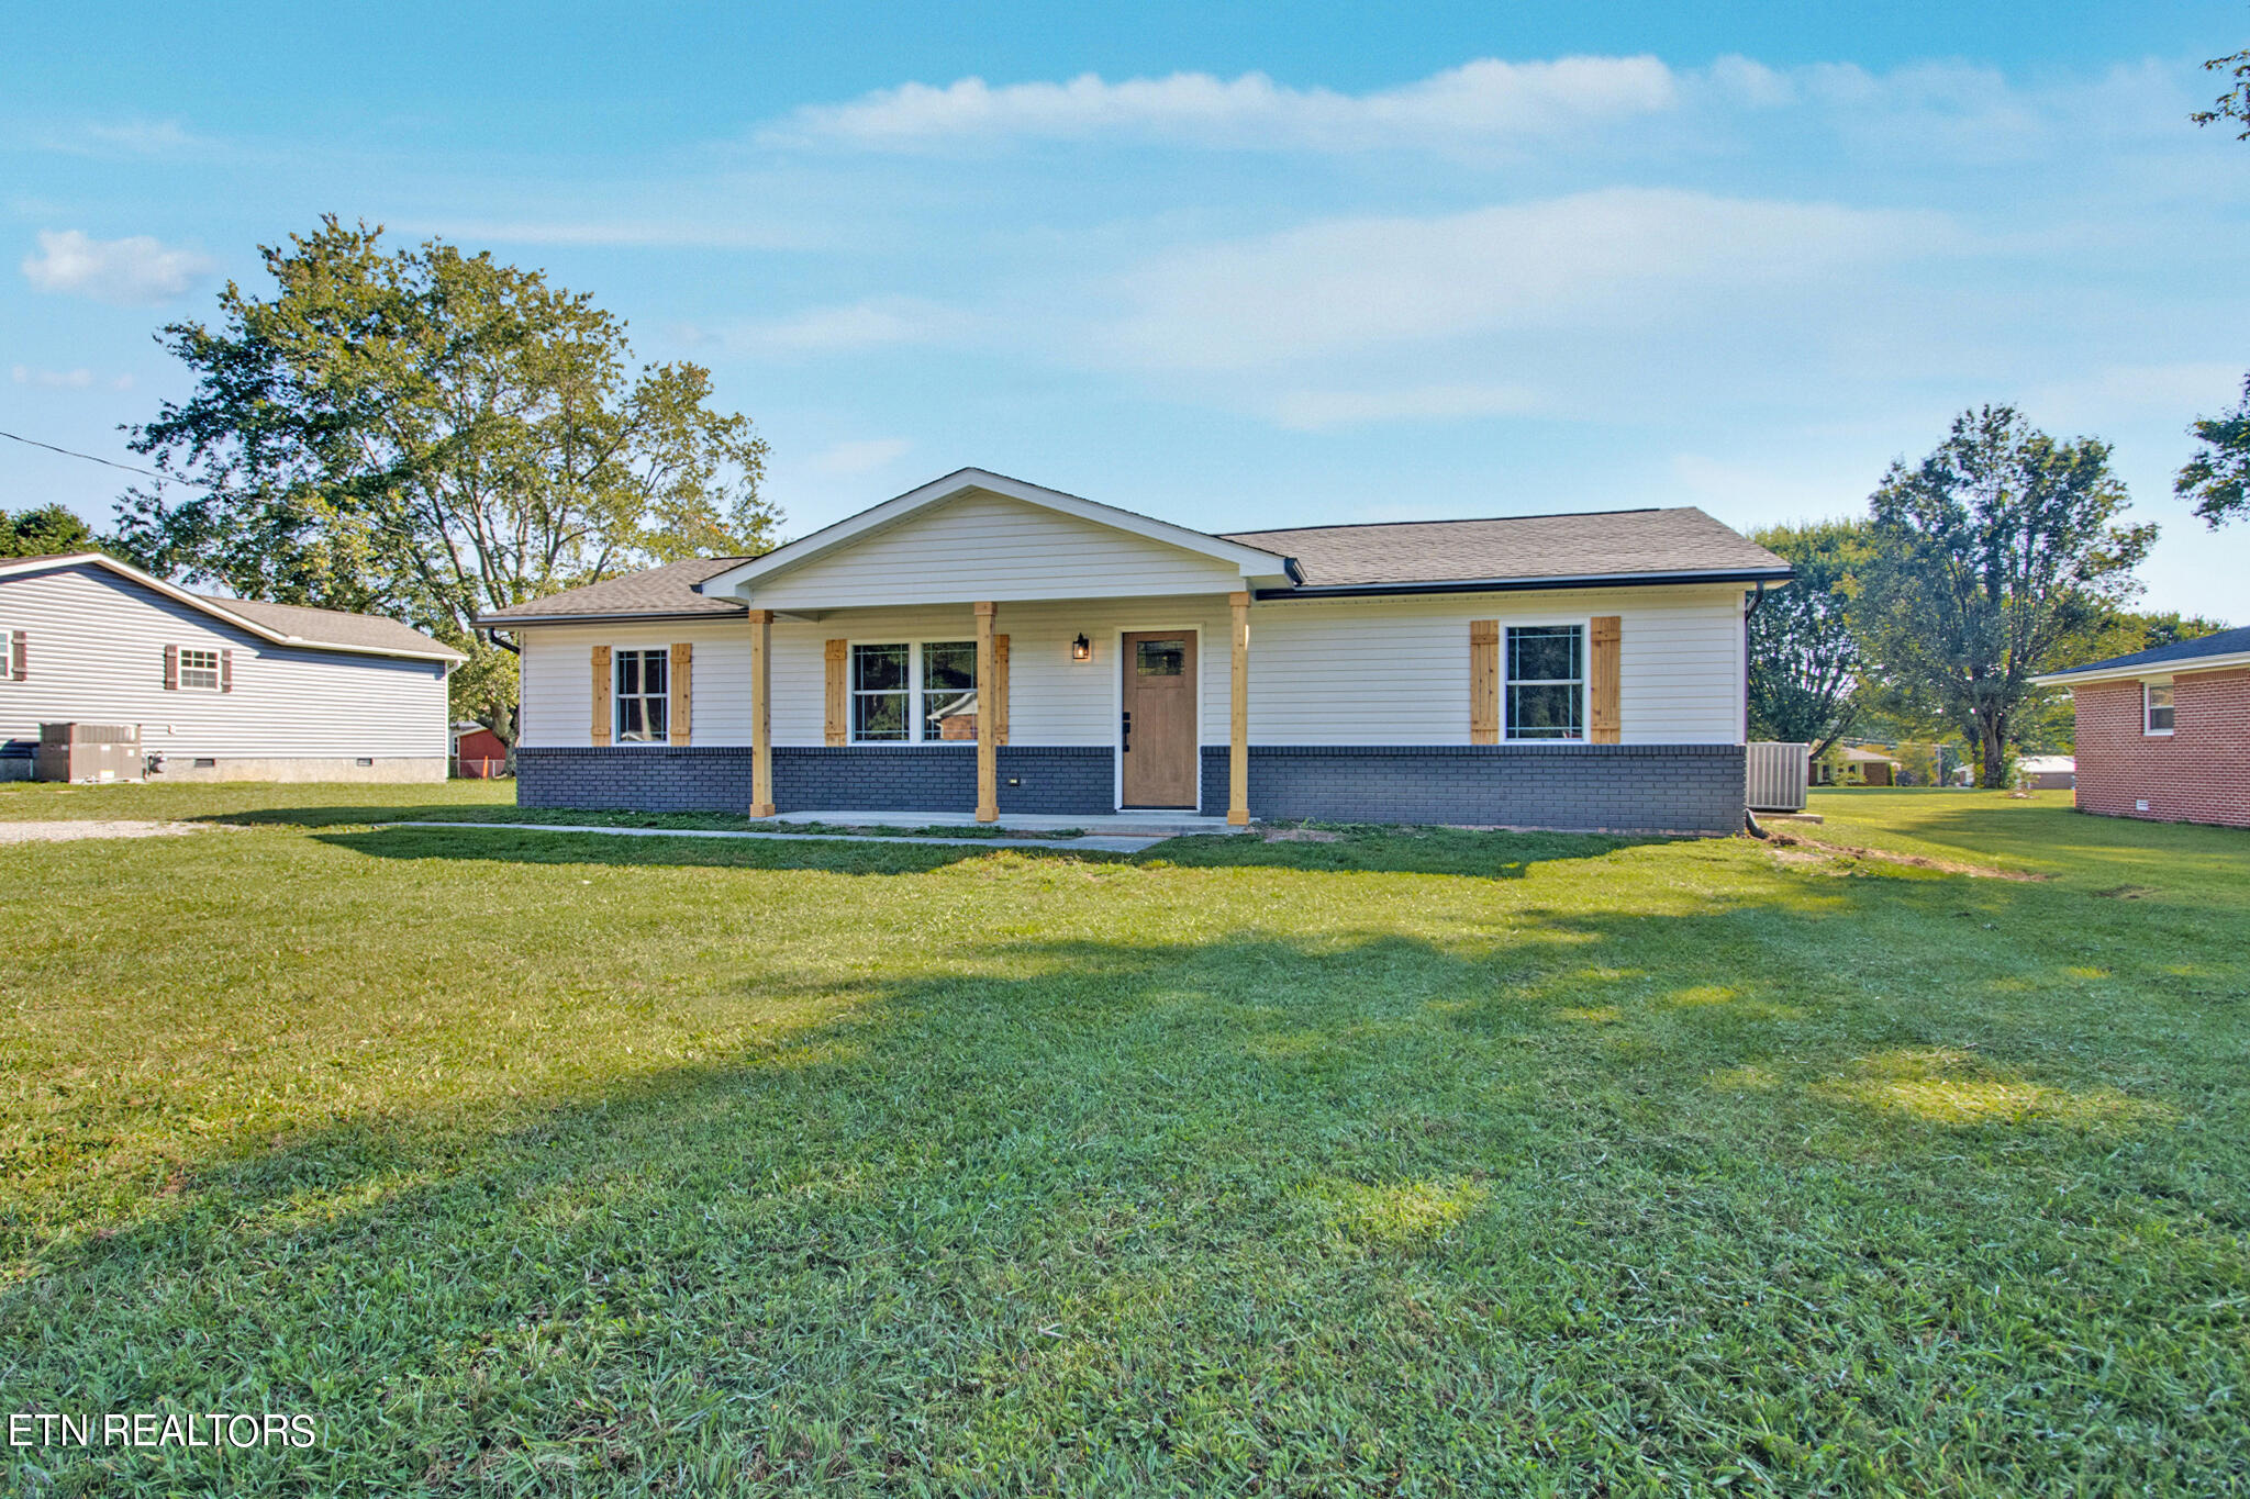
<instances>
[{"instance_id":1,"label":"brown shingle roof section right of the front porch gable","mask_svg":"<svg viewBox=\"0 0 2250 1499\"><path fill-rule=\"evenodd\" d=\"M1701 510L1503 515L1483 521L1388 521L1235 530L1226 537L1296 557L1310 589L1604 578L1616 573L1786 573L1789 564Z\"/></svg>"}]
</instances>

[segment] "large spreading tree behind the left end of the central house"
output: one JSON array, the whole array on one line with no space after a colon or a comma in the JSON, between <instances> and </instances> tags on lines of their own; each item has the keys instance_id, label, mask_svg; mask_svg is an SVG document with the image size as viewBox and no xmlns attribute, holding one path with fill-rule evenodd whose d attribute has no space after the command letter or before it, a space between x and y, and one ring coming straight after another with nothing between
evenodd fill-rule
<instances>
[{"instance_id":1,"label":"large spreading tree behind the left end of the central house","mask_svg":"<svg viewBox=\"0 0 2250 1499\"><path fill-rule=\"evenodd\" d=\"M270 292L162 333L196 378L133 431L189 481L130 490L119 546L243 598L367 609L468 652L454 710L515 735L486 609L691 555L772 546L765 440L695 364L536 270L324 218L263 247Z\"/></svg>"}]
</instances>

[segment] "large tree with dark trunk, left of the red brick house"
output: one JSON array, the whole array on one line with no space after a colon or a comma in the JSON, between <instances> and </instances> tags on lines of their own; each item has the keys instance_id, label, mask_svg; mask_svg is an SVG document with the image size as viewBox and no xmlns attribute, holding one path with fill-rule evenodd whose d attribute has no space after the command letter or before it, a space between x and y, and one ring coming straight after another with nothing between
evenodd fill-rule
<instances>
[{"instance_id":1,"label":"large tree with dark trunk, left of the red brick house","mask_svg":"<svg viewBox=\"0 0 2250 1499\"><path fill-rule=\"evenodd\" d=\"M2108 458L2106 443L2056 443L2014 407L1982 407L1922 463L1892 463L1870 501L1861 641L1904 703L1969 739L1982 787L2007 784L2032 676L2070 663L2140 589L2156 526L2122 521Z\"/></svg>"}]
</instances>

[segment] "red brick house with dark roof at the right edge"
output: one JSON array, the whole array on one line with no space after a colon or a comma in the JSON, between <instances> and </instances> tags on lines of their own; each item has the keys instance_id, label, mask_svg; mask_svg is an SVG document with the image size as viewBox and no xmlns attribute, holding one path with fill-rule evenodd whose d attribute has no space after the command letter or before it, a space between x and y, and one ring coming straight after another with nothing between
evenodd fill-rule
<instances>
[{"instance_id":1,"label":"red brick house with dark roof at the right edge","mask_svg":"<svg viewBox=\"0 0 2250 1499\"><path fill-rule=\"evenodd\" d=\"M2250 827L2250 629L2050 672L2079 712L2079 811Z\"/></svg>"}]
</instances>

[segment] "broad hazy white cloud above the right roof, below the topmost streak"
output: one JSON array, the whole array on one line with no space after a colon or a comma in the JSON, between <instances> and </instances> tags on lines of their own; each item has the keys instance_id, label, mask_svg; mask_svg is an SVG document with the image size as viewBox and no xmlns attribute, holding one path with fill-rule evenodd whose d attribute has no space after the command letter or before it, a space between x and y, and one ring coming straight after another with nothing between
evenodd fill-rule
<instances>
[{"instance_id":1,"label":"broad hazy white cloud above the right roof, below the topmost streak","mask_svg":"<svg viewBox=\"0 0 2250 1499\"><path fill-rule=\"evenodd\" d=\"M1935 214L1672 189L1346 218L1134 272L1105 342L1150 369L1244 369L1510 328L1638 333L1955 240Z\"/></svg>"}]
</instances>

